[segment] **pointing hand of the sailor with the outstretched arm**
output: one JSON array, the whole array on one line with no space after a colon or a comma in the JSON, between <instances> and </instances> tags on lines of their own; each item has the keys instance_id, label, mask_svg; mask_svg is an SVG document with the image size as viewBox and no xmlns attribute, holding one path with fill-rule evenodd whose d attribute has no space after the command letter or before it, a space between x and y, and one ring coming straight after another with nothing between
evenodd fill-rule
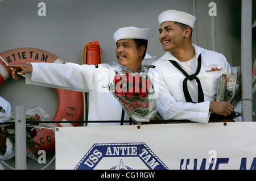
<instances>
[{"instance_id":1,"label":"pointing hand of the sailor with the outstretched arm","mask_svg":"<svg viewBox=\"0 0 256 181\"><path fill-rule=\"evenodd\" d=\"M6 65L7 68L11 68L11 76L13 79L18 80L19 75L24 75L27 73L32 72L32 65L31 64L13 64L13 65Z\"/></svg>"}]
</instances>

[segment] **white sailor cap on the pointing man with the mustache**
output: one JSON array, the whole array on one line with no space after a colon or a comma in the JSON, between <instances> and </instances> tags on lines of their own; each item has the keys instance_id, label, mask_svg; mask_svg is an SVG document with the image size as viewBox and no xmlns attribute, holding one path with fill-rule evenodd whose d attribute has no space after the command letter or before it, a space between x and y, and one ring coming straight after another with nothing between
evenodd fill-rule
<instances>
[{"instance_id":1,"label":"white sailor cap on the pointing man with the mustache","mask_svg":"<svg viewBox=\"0 0 256 181\"><path fill-rule=\"evenodd\" d=\"M148 40L150 37L150 28L124 27L119 28L114 33L115 43L121 39L143 39Z\"/></svg>"}]
</instances>

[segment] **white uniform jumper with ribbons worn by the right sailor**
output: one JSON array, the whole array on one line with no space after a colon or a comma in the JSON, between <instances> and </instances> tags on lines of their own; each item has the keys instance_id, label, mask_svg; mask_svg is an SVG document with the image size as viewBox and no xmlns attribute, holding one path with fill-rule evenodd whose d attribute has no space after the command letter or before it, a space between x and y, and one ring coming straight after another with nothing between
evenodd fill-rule
<instances>
[{"instance_id":1,"label":"white uniform jumper with ribbons worn by the right sailor","mask_svg":"<svg viewBox=\"0 0 256 181\"><path fill-rule=\"evenodd\" d=\"M196 45L193 47L196 55L195 59L191 61L195 61L196 65L190 64L190 61L180 62L170 52L166 52L152 64L155 68L150 68L148 71L156 94L158 94L156 107L164 120L191 120L205 124L209 121L210 101L216 99L218 79L228 68L228 62L221 53ZM199 71L197 68L200 66L200 57L201 68ZM195 75L186 77L171 61L180 66L188 75ZM212 68L217 69L209 71ZM184 79L187 79L187 83L184 83ZM188 94L183 91L183 88L186 89L186 87L191 100L189 100L189 96L187 99L185 97ZM203 89L203 98L200 94L202 93L201 88Z\"/></svg>"}]
</instances>

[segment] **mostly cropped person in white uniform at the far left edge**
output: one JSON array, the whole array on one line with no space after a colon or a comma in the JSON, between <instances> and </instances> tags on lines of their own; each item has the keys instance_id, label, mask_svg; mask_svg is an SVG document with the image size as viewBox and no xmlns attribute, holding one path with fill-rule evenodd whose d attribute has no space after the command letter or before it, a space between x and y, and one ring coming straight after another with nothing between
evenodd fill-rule
<instances>
[{"instance_id":1,"label":"mostly cropped person in white uniform at the far left edge","mask_svg":"<svg viewBox=\"0 0 256 181\"><path fill-rule=\"evenodd\" d=\"M8 113L11 113L11 105L7 100L0 96L0 122L1 117ZM0 159L9 159L15 154L13 143L6 137L6 131L1 128L1 125L0 129Z\"/></svg>"}]
</instances>

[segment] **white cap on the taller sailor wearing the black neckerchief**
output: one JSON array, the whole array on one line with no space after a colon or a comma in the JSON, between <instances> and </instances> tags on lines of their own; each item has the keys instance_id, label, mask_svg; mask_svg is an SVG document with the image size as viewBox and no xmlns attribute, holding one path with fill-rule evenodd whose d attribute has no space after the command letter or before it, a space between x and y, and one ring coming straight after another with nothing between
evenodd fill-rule
<instances>
[{"instance_id":1,"label":"white cap on the taller sailor wearing the black neckerchief","mask_svg":"<svg viewBox=\"0 0 256 181\"><path fill-rule=\"evenodd\" d=\"M161 25L163 22L183 23L193 29L196 22L196 17L188 14L187 12L168 10L163 11L158 16L158 23Z\"/></svg>"}]
</instances>

